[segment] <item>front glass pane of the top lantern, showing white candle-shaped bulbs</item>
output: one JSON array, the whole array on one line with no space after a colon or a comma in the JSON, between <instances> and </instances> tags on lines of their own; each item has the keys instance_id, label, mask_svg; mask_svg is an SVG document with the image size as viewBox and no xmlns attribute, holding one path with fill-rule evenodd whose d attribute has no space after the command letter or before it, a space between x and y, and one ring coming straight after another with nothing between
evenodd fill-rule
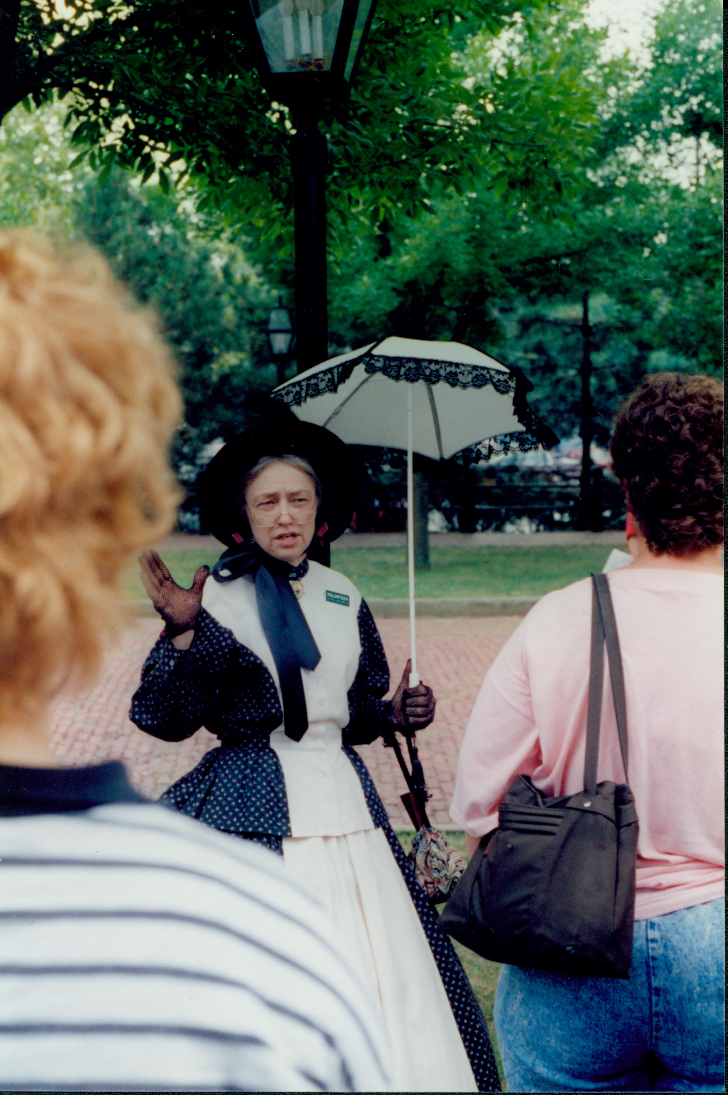
<instances>
[{"instance_id":1,"label":"front glass pane of the top lantern, showing white candle-shaped bulbs","mask_svg":"<svg viewBox=\"0 0 728 1095\"><path fill-rule=\"evenodd\" d=\"M331 69L344 0L250 0L271 72Z\"/></svg>"}]
</instances>

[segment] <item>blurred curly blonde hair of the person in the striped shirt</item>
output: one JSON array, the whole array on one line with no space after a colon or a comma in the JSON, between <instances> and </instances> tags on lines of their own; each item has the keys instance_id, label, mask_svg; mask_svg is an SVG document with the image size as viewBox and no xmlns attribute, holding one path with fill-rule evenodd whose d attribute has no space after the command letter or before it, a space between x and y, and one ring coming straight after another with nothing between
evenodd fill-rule
<instances>
[{"instance_id":1,"label":"blurred curly blonde hair of the person in the striped shirt","mask_svg":"<svg viewBox=\"0 0 728 1095\"><path fill-rule=\"evenodd\" d=\"M0 230L0 723L99 669L180 500L171 355L91 249Z\"/></svg>"}]
</instances>

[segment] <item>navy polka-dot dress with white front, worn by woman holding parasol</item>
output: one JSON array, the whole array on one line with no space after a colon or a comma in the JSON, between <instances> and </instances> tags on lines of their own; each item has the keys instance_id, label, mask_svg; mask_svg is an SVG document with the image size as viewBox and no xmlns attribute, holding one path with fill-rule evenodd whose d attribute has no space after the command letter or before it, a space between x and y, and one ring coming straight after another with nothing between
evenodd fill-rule
<instances>
[{"instance_id":1,"label":"navy polka-dot dress with white front, worn by woman holding parasol","mask_svg":"<svg viewBox=\"0 0 728 1095\"><path fill-rule=\"evenodd\" d=\"M220 739L162 798L282 854L334 913L379 1000L395 1091L499 1091L481 1008L356 750L392 726L374 621L343 575L304 562L290 577L322 653L303 671L309 730L300 744L285 736L252 584L208 579L192 645L163 633L132 699L132 722L155 737L205 726Z\"/></svg>"}]
</instances>

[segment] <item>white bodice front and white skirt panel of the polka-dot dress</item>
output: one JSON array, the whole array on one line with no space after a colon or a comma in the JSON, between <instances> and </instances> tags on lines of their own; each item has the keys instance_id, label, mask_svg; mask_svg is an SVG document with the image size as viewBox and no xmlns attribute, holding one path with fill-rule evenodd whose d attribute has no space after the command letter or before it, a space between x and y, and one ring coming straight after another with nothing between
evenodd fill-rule
<instances>
[{"instance_id":1,"label":"white bodice front and white skirt panel of the polka-dot dress","mask_svg":"<svg viewBox=\"0 0 728 1095\"><path fill-rule=\"evenodd\" d=\"M290 815L284 860L333 915L370 987L390 1042L393 1090L474 1092L473 1071L417 910L342 750L347 692L361 653L360 603L348 578L309 564L300 604L321 652L316 668L301 671L309 728L301 741L287 738L282 725L270 735ZM208 580L203 604L261 658L278 684L253 583Z\"/></svg>"}]
</instances>

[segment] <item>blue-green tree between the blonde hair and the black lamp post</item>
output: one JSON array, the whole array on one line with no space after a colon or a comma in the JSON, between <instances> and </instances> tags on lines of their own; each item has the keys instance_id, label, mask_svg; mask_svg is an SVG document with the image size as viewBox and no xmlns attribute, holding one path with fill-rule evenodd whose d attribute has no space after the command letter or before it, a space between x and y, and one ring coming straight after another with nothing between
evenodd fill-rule
<instances>
[{"instance_id":1,"label":"blue-green tree between the blonde hair and the black lamp post","mask_svg":"<svg viewBox=\"0 0 728 1095\"><path fill-rule=\"evenodd\" d=\"M204 445L238 431L247 391L275 384L263 335L270 290L238 249L200 240L159 188L131 187L120 173L86 185L74 215L79 234L160 318L185 400L175 458L194 463Z\"/></svg>"}]
</instances>

